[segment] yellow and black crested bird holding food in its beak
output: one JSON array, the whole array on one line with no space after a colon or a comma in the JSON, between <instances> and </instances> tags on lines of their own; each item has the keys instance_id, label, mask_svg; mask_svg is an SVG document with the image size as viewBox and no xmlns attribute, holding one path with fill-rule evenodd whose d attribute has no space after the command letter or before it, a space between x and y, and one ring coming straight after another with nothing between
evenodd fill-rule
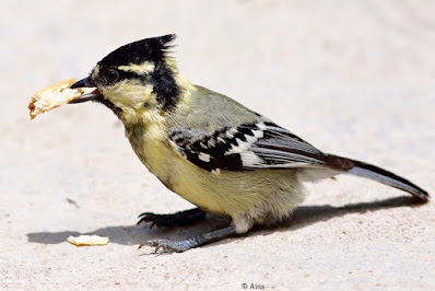
<instances>
[{"instance_id":1,"label":"yellow and black crested bird holding food in its beak","mask_svg":"<svg viewBox=\"0 0 435 291\"><path fill-rule=\"evenodd\" d=\"M306 182L340 174L369 178L427 201L410 181L378 166L325 153L271 119L179 72L175 34L124 45L71 88L93 88L71 103L97 102L124 124L140 161L169 190L197 208L172 214L144 212L139 223L179 228L207 213L228 225L181 241L151 240L155 253L185 252L272 225L304 200Z\"/></svg>"}]
</instances>

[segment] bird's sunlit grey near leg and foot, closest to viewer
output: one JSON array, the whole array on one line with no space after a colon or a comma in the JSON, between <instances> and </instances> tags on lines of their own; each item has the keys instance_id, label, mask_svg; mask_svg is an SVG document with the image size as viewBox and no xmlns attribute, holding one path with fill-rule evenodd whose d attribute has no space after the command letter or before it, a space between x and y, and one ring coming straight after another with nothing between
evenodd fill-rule
<instances>
[{"instance_id":1,"label":"bird's sunlit grey near leg and foot, closest to viewer","mask_svg":"<svg viewBox=\"0 0 435 291\"><path fill-rule=\"evenodd\" d=\"M183 253L187 249L210 244L212 242L216 242L220 240L223 240L230 235L236 234L236 228L234 225L209 232L205 234L201 234L198 236L190 236L187 237L185 241L180 242L173 242L168 240L152 240L148 241L143 244L139 245L139 248L149 245L149 246L155 246L155 253Z\"/></svg>"}]
</instances>

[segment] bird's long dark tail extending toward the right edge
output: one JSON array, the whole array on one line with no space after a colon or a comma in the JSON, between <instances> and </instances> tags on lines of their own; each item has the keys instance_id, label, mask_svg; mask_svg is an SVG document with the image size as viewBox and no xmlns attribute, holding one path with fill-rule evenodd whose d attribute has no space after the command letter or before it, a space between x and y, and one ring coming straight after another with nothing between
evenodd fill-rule
<instances>
[{"instance_id":1,"label":"bird's long dark tail extending toward the right edge","mask_svg":"<svg viewBox=\"0 0 435 291\"><path fill-rule=\"evenodd\" d=\"M345 164L345 171L349 174L365 177L369 179L377 181L379 183L386 184L388 186L401 189L403 191L408 191L415 197L419 197L422 200L428 200L427 191L423 190L415 184L409 182L405 178L402 178L391 172L388 172L384 168L380 168L375 165L371 165L364 162L351 160L348 158L341 158L333 154L328 154L331 162L333 164Z\"/></svg>"}]
</instances>

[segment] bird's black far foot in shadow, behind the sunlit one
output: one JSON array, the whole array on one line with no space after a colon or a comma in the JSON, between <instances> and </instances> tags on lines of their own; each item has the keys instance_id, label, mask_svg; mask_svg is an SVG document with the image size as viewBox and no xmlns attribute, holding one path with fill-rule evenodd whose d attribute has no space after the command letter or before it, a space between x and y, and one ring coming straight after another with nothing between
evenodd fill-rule
<instances>
[{"instance_id":1,"label":"bird's black far foot in shadow, behind the sunlit one","mask_svg":"<svg viewBox=\"0 0 435 291\"><path fill-rule=\"evenodd\" d=\"M172 228L191 224L193 222L202 220L204 217L205 211L199 208L178 211L173 214L154 214L151 212L143 212L139 216L140 220L138 221L138 224L142 222L152 222L150 229L154 225Z\"/></svg>"}]
</instances>

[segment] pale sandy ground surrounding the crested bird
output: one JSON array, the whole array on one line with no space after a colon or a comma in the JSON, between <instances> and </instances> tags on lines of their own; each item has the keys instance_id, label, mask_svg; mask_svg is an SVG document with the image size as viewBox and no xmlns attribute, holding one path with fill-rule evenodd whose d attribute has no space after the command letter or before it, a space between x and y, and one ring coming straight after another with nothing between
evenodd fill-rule
<instances>
[{"instance_id":1,"label":"pale sandy ground surrounding the crested bird","mask_svg":"<svg viewBox=\"0 0 435 291\"><path fill-rule=\"evenodd\" d=\"M435 189L433 1L8 1L0 10L0 288L435 289L435 207L349 176L309 186L294 218L183 254L136 226L191 207L138 161L105 107L31 121L30 96L85 77L131 40L178 34L181 71L326 152ZM110 237L75 247L71 234ZM257 284L257 286L251 286Z\"/></svg>"}]
</instances>

